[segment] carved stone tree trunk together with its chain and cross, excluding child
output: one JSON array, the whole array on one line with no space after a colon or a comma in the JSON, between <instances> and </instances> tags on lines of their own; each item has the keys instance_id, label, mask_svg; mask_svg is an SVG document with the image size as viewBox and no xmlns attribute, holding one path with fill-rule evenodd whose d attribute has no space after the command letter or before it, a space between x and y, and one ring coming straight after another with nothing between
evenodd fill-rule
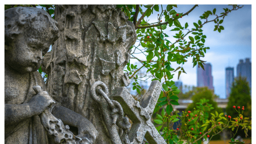
<instances>
[{"instance_id":1,"label":"carved stone tree trunk together with its chain and cross, excluding child","mask_svg":"<svg viewBox=\"0 0 256 144\"><path fill-rule=\"evenodd\" d=\"M123 69L137 38L124 12L116 5L56 5L55 20L60 37L42 64L49 95L93 123L96 144L141 144L144 137L165 144L151 123L160 82L152 82L140 102L124 87L130 80Z\"/></svg>"}]
</instances>

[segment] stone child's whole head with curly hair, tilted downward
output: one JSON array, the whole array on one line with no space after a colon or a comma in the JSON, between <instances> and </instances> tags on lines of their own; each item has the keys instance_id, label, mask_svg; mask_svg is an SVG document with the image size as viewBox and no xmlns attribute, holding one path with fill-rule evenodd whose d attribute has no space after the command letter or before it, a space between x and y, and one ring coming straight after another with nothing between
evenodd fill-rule
<instances>
[{"instance_id":1,"label":"stone child's whole head with curly hair, tilted downward","mask_svg":"<svg viewBox=\"0 0 256 144\"><path fill-rule=\"evenodd\" d=\"M20 73L38 70L42 57L58 39L58 23L43 9L5 11L5 63Z\"/></svg>"}]
</instances>

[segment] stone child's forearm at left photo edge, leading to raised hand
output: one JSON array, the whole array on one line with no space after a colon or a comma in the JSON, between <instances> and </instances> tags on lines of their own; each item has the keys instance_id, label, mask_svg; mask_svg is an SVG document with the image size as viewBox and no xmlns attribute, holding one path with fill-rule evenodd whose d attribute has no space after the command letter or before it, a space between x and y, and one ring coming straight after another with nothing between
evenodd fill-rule
<instances>
[{"instance_id":1,"label":"stone child's forearm at left photo edge, leading to raised hand","mask_svg":"<svg viewBox=\"0 0 256 144\"><path fill-rule=\"evenodd\" d=\"M4 105L4 122L5 125L18 123L26 118L32 117L29 104L5 104Z\"/></svg>"}]
</instances>

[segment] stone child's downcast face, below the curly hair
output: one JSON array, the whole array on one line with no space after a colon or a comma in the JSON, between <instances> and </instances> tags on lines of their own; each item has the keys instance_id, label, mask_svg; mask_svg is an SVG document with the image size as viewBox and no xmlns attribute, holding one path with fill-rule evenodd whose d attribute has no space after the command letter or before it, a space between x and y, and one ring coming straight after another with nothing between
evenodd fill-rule
<instances>
[{"instance_id":1,"label":"stone child's downcast face, below the curly hair","mask_svg":"<svg viewBox=\"0 0 256 144\"><path fill-rule=\"evenodd\" d=\"M5 62L17 72L35 72L40 68L43 55L50 45L46 37L28 38L21 34L8 47L5 46Z\"/></svg>"}]
</instances>

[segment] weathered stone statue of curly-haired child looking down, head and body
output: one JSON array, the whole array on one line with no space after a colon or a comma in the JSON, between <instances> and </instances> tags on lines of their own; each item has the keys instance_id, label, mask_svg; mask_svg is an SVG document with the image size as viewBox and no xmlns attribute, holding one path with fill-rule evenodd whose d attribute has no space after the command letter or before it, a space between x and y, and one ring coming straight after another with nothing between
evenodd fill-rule
<instances>
[{"instance_id":1,"label":"weathered stone statue of curly-haired child looking down, head and body","mask_svg":"<svg viewBox=\"0 0 256 144\"><path fill-rule=\"evenodd\" d=\"M57 26L42 9L5 11L5 144L93 144L96 140L93 124L55 102L37 71L59 37ZM77 127L78 135L64 124Z\"/></svg>"}]
</instances>

